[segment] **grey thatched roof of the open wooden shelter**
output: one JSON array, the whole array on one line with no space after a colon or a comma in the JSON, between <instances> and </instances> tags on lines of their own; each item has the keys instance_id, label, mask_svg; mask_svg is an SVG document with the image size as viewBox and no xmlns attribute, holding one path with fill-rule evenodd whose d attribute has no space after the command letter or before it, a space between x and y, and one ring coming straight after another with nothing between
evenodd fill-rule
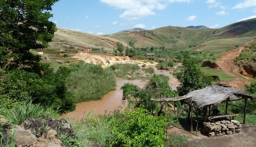
<instances>
[{"instance_id":1,"label":"grey thatched roof of the open wooden shelter","mask_svg":"<svg viewBox=\"0 0 256 147\"><path fill-rule=\"evenodd\" d=\"M204 89L191 91L188 94L180 97L173 97L173 98L166 98L166 99L151 99L151 100L152 101L178 101L181 99L192 98L192 101L196 102L198 107L202 109L205 105L220 103L221 101L224 101L225 99L227 99L232 95L241 96L243 98L245 97L254 98L254 99L256 98L238 89L212 85Z\"/></svg>"}]
</instances>

